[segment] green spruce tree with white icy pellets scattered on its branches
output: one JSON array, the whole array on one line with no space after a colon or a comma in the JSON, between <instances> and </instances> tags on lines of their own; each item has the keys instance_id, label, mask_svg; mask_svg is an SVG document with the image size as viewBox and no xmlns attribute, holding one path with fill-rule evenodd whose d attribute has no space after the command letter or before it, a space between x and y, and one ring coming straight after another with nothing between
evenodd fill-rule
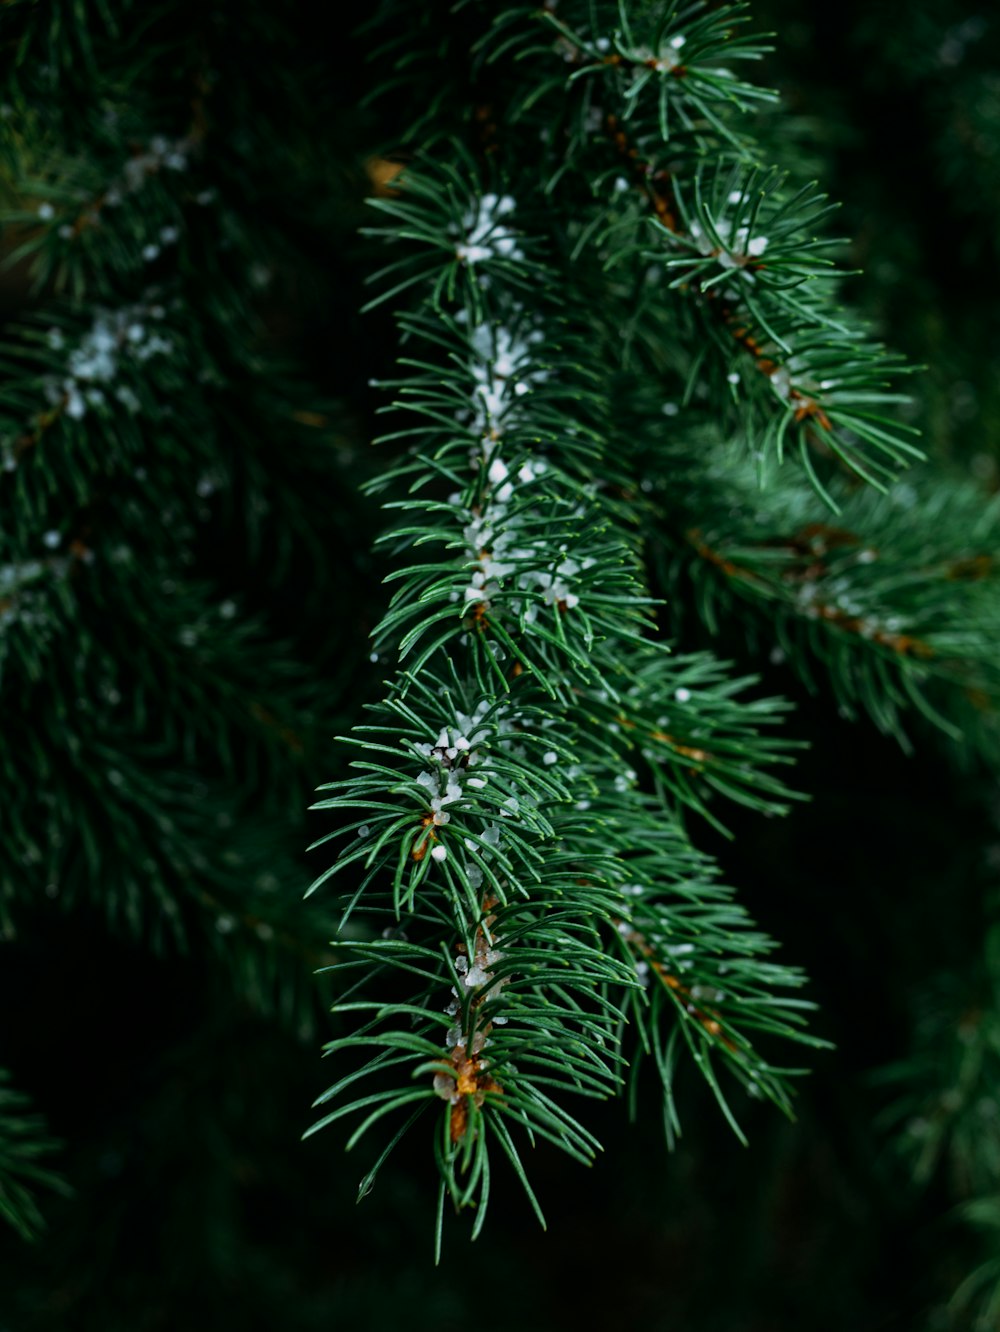
<instances>
[{"instance_id":1,"label":"green spruce tree with white icy pellets scattered on its branches","mask_svg":"<svg viewBox=\"0 0 1000 1332\"><path fill-rule=\"evenodd\" d=\"M534 1212L558 1255L603 1154L595 1255L636 1189L658 1233L700 1236L663 1325L995 1327L1000 962L964 850L1000 763L989 404L969 460L955 381L913 370L948 338L911 329L907 361L872 332L905 274L876 262L846 304L811 170L838 174L836 116L796 121L759 72L800 77L794 17L382 0L329 55L312 23L5 7L0 912L33 1018L0 1044L0 1215L51 1216L33 1261L69 1275L29 1268L0 1325L379 1325L383 1295L304 1295L288 1256L308 1236L320 1271L332 1224L357 1243L310 1177L340 1187L357 1146L374 1229L421 1244L394 1287L434 1291L414 1321L462 1312L406 1275L431 1249L530 1268ZM985 32L928 4L921 67L866 23L911 83ZM988 157L1000 112L963 73L935 151L985 228L947 135ZM818 105L843 89L818 76ZM100 978L72 1079L111 1136L32 1050L72 994L43 963ZM101 1023L129 1058L164 1028L134 1087ZM836 1296L760 1285L728 1181L790 1197L802 1142L811 1171L850 1158L844 1224L870 1212L919 1287L843 1240ZM164 1188L161 1256L125 1251L108 1300ZM280 1239L254 1221L276 1196ZM814 1244L822 1205L796 1204Z\"/></svg>"}]
</instances>

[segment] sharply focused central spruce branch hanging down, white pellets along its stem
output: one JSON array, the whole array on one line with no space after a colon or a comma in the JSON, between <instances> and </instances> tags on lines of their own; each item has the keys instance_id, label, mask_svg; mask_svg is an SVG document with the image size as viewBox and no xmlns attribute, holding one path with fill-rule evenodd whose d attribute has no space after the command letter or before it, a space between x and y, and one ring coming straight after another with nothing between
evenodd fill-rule
<instances>
[{"instance_id":1,"label":"sharply focused central spruce branch hanging down, white pellets along its stem","mask_svg":"<svg viewBox=\"0 0 1000 1332\"><path fill-rule=\"evenodd\" d=\"M799 978L760 960L770 943L744 931L703 864L700 888L678 874L671 852L686 843L667 803L707 813L715 790L780 807L787 793L767 766L782 750L758 726L782 707L736 705L739 685L715 663L674 661L652 637L632 515L605 480L601 373L558 316L514 198L474 178L462 190L454 168L397 180L402 193L377 201L395 222L381 234L407 250L379 278L395 297L426 293L401 318L409 373L391 385L394 416L417 422L391 438L414 442L377 484L409 485L389 503L401 518L385 543L401 567L374 635L378 659L397 655L401 671L378 721L350 741L357 775L317 806L352 822L324 839L341 850L314 888L350 876L340 948L357 960L338 971L360 970L362 992L379 967L419 988L338 1006L372 1019L328 1050L370 1058L322 1098L336 1108L316 1127L364 1115L353 1146L385 1116L443 1099L442 1188L457 1208L478 1207L478 1232L494 1139L537 1209L509 1122L593 1155L551 1091L619 1086L626 1008L660 1051L667 1099L675 1024L727 1114L708 1047L787 1108L784 1075L748 1032L799 1035L791 1000L768 999ZM631 761L648 774L644 798ZM654 852L664 827L671 839ZM639 846L650 850L636 862ZM734 924L744 979L731 1012L707 1018L694 1000L700 972L691 986L679 979L692 963L674 960L668 940L695 951L694 928L711 967L732 952ZM647 996L639 978L651 964L662 987ZM377 1090L345 1103L360 1078Z\"/></svg>"}]
</instances>

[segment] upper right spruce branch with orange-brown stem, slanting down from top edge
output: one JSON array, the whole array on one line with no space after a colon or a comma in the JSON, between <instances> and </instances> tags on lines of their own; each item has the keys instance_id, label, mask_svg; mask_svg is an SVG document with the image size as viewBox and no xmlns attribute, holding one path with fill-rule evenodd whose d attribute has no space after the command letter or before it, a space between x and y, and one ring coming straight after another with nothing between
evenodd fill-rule
<instances>
[{"instance_id":1,"label":"upper right spruce branch with orange-brown stem, slanting down from top edge","mask_svg":"<svg viewBox=\"0 0 1000 1332\"><path fill-rule=\"evenodd\" d=\"M594 248L606 268L642 273L643 306L662 309L654 320L668 310L676 321L670 293L683 297L700 349L686 393L727 397L755 453L780 461L794 448L832 507L830 469L814 454L884 489L921 456L907 438L913 432L885 414L904 401L887 380L905 368L831 296L836 273L824 252L834 242L812 230L830 210L826 197L814 186L790 190L759 161L747 112L774 95L728 67L766 49L739 35L743 7L667 5L630 16L623 5L601 5L579 21L573 8L506 11L485 53L533 61L550 93L545 100L534 89L523 115L561 125L549 155L553 197L579 205L590 196L574 253ZM555 41L533 40L539 17ZM569 85L546 72L559 59L571 67ZM557 96L562 116L553 111Z\"/></svg>"}]
</instances>

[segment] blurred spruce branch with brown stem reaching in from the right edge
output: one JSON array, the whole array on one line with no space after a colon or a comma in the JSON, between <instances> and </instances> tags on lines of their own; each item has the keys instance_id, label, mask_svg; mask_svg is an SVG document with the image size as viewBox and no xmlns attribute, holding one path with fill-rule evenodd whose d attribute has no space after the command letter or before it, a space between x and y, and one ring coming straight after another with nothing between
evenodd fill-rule
<instances>
[{"instance_id":1,"label":"blurred spruce branch with brown stem reaching in from the right edge","mask_svg":"<svg viewBox=\"0 0 1000 1332\"><path fill-rule=\"evenodd\" d=\"M808 494L776 477L762 490L732 449L707 449L704 470L678 460L655 482L662 575L691 587L707 627L739 614L811 689L827 679L847 715L908 746L916 710L995 762L996 503L917 474L888 496L840 488L831 525Z\"/></svg>"}]
</instances>

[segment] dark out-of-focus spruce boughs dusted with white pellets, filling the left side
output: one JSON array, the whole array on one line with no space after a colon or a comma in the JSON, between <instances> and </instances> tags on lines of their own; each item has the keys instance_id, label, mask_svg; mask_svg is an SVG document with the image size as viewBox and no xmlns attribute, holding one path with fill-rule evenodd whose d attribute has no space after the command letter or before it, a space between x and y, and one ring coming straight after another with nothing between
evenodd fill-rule
<instances>
[{"instance_id":1,"label":"dark out-of-focus spruce boughs dusted with white pellets, filling the left side","mask_svg":"<svg viewBox=\"0 0 1000 1332\"><path fill-rule=\"evenodd\" d=\"M357 468L353 422L290 373L264 306L304 230L329 244L329 155L284 141L314 107L280 63L258 79L272 115L244 115L244 43L284 48L284 19L192 41L172 4L121 27L99 8L8 7L4 31L0 915L9 938L100 912L214 958L232 994L302 1030L329 924L282 890L330 686L358 663L338 649L321 679L329 638L300 638L273 593L289 565L342 571L329 490ZM246 169L258 156L324 182L309 208Z\"/></svg>"}]
</instances>

